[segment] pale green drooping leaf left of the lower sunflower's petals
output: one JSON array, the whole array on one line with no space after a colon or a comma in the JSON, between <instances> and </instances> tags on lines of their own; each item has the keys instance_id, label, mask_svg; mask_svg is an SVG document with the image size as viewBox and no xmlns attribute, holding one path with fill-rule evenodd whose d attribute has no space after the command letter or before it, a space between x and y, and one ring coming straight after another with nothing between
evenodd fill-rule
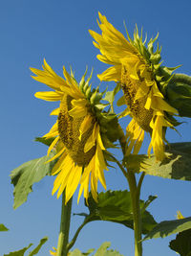
<instances>
[{"instance_id":1,"label":"pale green drooping leaf left of the lower sunflower's petals","mask_svg":"<svg viewBox=\"0 0 191 256\"><path fill-rule=\"evenodd\" d=\"M14 209L27 200L28 195L32 192L33 183L39 182L46 175L51 175L56 160L49 163L46 162L51 159L53 155L54 153L52 152L49 156L46 155L33 159L11 172L11 183L14 185Z\"/></svg>"}]
</instances>

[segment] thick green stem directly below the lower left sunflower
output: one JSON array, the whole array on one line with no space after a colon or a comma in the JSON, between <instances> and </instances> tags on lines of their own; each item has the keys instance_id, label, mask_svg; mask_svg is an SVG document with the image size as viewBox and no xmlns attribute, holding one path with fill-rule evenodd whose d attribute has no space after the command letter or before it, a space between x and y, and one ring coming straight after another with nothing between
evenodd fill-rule
<instances>
[{"instance_id":1,"label":"thick green stem directly below the lower left sunflower","mask_svg":"<svg viewBox=\"0 0 191 256\"><path fill-rule=\"evenodd\" d=\"M72 202L73 202L73 198L71 198L67 202L67 204L65 204L65 191L64 191L62 194L60 232L58 236L56 256L67 256L68 254L67 245L69 242Z\"/></svg>"}]
</instances>

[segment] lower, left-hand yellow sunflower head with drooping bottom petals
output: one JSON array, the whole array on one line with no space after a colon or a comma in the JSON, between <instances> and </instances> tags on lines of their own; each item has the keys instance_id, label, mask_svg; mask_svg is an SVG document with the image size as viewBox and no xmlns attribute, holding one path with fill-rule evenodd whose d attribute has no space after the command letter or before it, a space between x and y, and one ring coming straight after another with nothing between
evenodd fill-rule
<instances>
[{"instance_id":1,"label":"lower, left-hand yellow sunflower head with drooping bottom petals","mask_svg":"<svg viewBox=\"0 0 191 256\"><path fill-rule=\"evenodd\" d=\"M79 200L84 191L84 198L89 195L89 181L91 192L96 200L97 181L106 189L104 170L107 170L103 151L105 147L101 138L99 120L101 116L100 99L103 93L98 89L91 91L90 78L85 81L82 77L79 84L74 79L73 71L69 74L65 67L65 80L55 74L53 69L44 60L43 70L31 68L36 76L32 78L53 88L53 91L36 92L35 97L60 102L58 108L51 115L57 115L53 128L44 135L46 139L53 138L48 154L56 149L56 154L49 161L59 157L53 166L52 175L57 175L53 183L53 194L57 198L65 190L66 202L72 198L77 185L80 183Z\"/></svg>"}]
</instances>

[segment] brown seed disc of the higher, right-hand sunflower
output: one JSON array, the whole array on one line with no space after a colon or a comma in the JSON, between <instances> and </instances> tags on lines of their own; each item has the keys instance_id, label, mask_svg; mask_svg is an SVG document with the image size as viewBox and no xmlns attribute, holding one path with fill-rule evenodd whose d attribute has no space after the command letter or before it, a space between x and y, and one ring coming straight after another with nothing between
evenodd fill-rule
<instances>
[{"instance_id":1,"label":"brown seed disc of the higher, right-hand sunflower","mask_svg":"<svg viewBox=\"0 0 191 256\"><path fill-rule=\"evenodd\" d=\"M140 128L143 128L145 131L152 132L152 128L150 128L149 125L153 118L153 109L150 108L148 110L144 107L147 101L147 95L135 101L140 83L141 80L134 81L128 75L126 68L122 68L121 87L125 95L126 103L130 108L131 114Z\"/></svg>"}]
</instances>

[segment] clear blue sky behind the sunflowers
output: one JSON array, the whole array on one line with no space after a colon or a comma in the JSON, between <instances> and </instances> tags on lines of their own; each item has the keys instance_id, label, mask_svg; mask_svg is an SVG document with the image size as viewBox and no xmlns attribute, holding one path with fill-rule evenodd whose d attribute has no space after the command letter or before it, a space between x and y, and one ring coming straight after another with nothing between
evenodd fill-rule
<instances>
[{"instance_id":1,"label":"clear blue sky behind the sunflowers","mask_svg":"<svg viewBox=\"0 0 191 256\"><path fill-rule=\"evenodd\" d=\"M49 113L54 103L35 99L36 91L47 90L46 85L33 81L30 67L41 68L43 58L62 75L62 66L73 66L77 80L86 65L94 67L93 84L99 83L96 74L105 65L96 59L98 54L92 44L88 30L98 32L97 13L101 12L117 29L125 33L125 21L130 35L135 25L143 27L148 38L159 32L164 65L182 64L179 72L190 73L190 1L64 1L64 0L18 0L1 1L0 9L0 70L1 70L1 178L0 178L0 222L10 228L0 234L0 255L37 244L44 236L49 237L39 256L57 244L61 199L52 197L54 177L46 177L33 186L27 203L17 210L12 209L13 187L10 172L23 162L46 154L46 147L33 141L52 126L54 119ZM190 141L190 120L180 126L181 137L168 132L170 142ZM142 151L146 151L143 148ZM126 189L127 184L118 170L106 174L108 189ZM101 189L101 187L99 187ZM190 216L191 193L189 182L167 180L146 176L142 187L142 199L158 195L149 211L157 221L172 220L177 210ZM87 211L81 199L73 212ZM71 234L82 220L72 218ZM144 255L176 255L168 248L174 237L145 242ZM133 231L110 222L94 222L87 225L74 245L81 250L97 248L105 241L121 254L133 255Z\"/></svg>"}]
</instances>

